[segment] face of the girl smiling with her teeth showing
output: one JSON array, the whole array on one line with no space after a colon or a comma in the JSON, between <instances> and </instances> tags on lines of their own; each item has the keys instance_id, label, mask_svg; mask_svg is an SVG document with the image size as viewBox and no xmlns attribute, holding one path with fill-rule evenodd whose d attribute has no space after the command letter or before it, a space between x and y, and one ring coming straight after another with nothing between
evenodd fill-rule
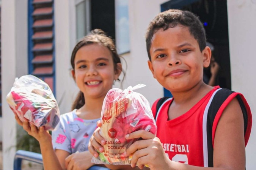
<instances>
[{"instance_id":1,"label":"face of the girl smiling with her teeth showing","mask_svg":"<svg viewBox=\"0 0 256 170\"><path fill-rule=\"evenodd\" d=\"M122 68L118 63L120 69L114 70L112 53L97 43L82 46L75 55L74 65L72 75L85 98L104 98Z\"/></svg>"}]
</instances>

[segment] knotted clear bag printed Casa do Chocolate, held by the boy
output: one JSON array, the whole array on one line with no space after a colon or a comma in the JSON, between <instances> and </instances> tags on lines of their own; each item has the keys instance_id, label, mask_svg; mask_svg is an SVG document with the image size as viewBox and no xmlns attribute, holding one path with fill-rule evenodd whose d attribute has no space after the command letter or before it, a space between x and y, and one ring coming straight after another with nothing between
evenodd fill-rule
<instances>
[{"instance_id":1,"label":"knotted clear bag printed Casa do Chocolate, held by the boy","mask_svg":"<svg viewBox=\"0 0 256 170\"><path fill-rule=\"evenodd\" d=\"M139 139L127 140L126 134L146 130L156 134L157 127L148 100L133 90L144 87L139 84L125 90L110 89L104 99L101 111L101 136L106 140L104 152L91 162L96 164L130 165L126 149Z\"/></svg>"}]
</instances>

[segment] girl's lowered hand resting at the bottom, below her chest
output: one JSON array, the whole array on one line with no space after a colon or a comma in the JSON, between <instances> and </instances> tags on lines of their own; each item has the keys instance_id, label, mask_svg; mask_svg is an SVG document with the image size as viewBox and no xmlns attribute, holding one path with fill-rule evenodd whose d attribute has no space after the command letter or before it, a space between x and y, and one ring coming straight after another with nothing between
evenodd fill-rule
<instances>
[{"instance_id":1,"label":"girl's lowered hand resting at the bottom, below her chest","mask_svg":"<svg viewBox=\"0 0 256 170\"><path fill-rule=\"evenodd\" d=\"M67 170L86 170L94 165L91 163L92 157L89 151L73 153L65 159L65 168Z\"/></svg>"}]
</instances>

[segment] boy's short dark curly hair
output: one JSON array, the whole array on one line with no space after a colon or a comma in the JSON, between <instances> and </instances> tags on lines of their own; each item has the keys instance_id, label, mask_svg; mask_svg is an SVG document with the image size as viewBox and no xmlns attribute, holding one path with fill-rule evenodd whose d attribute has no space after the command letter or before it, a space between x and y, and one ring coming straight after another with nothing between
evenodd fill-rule
<instances>
[{"instance_id":1,"label":"boy's short dark curly hair","mask_svg":"<svg viewBox=\"0 0 256 170\"><path fill-rule=\"evenodd\" d=\"M152 37L159 29L165 31L168 28L174 28L177 25L188 27L190 34L197 40L200 51L206 46L206 35L203 24L198 17L189 11L178 9L169 9L159 13L150 23L146 32L146 46L149 60L151 61L150 48Z\"/></svg>"}]
</instances>

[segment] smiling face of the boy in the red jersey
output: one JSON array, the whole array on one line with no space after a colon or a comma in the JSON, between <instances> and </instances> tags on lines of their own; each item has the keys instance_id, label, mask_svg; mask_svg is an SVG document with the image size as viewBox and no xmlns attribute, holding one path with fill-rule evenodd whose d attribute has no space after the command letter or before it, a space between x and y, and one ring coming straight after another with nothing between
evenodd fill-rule
<instances>
[{"instance_id":1,"label":"smiling face of the boy in the red jersey","mask_svg":"<svg viewBox=\"0 0 256 170\"><path fill-rule=\"evenodd\" d=\"M209 66L211 51L202 52L185 26L158 30L152 37L149 69L157 81L171 92L203 83L203 68Z\"/></svg>"}]
</instances>

